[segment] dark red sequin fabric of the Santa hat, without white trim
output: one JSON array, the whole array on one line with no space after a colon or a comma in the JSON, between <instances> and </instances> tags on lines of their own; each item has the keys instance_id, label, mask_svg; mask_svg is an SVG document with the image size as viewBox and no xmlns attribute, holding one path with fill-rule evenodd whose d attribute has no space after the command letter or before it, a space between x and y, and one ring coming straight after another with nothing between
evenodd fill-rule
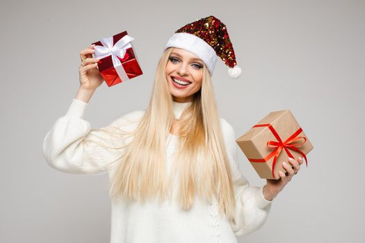
<instances>
[{"instance_id":1,"label":"dark red sequin fabric of the Santa hat, without white trim","mask_svg":"<svg viewBox=\"0 0 365 243\"><path fill-rule=\"evenodd\" d=\"M197 19L195 22L186 24L179 28L175 33L190 33L200 37L216 51L225 65L234 67L236 65L236 56L232 42L229 39L227 27L214 16Z\"/></svg>"}]
</instances>

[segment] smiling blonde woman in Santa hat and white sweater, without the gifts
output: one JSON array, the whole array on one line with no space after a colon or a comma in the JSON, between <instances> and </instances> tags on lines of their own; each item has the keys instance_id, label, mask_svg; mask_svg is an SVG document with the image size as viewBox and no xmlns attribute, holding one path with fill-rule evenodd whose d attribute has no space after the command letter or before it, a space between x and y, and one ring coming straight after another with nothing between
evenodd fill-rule
<instances>
[{"instance_id":1,"label":"smiling blonde woman in Santa hat and white sweater, without the gifts","mask_svg":"<svg viewBox=\"0 0 365 243\"><path fill-rule=\"evenodd\" d=\"M286 174L263 187L250 187L238 170L234 129L218 117L211 84L218 56L229 76L241 71L225 25L209 16L176 31L159 60L147 110L100 129L83 119L103 82L94 51L81 51L79 91L43 151L60 171L108 173L111 242L229 243L259 229L302 160L289 161Z\"/></svg>"}]
</instances>

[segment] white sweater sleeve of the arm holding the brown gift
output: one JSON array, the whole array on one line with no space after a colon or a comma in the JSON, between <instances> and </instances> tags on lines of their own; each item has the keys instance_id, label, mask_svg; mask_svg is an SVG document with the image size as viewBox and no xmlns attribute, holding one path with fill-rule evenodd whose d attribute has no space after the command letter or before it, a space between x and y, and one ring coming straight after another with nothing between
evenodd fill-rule
<instances>
[{"instance_id":1,"label":"white sweater sleeve of the arm holding the brown gift","mask_svg":"<svg viewBox=\"0 0 365 243\"><path fill-rule=\"evenodd\" d=\"M250 186L249 181L238 169L238 144L234 128L222 119L227 154L232 171L232 181L236 199L236 215L230 224L235 235L247 235L257 231L265 223L273 200L263 197L263 186Z\"/></svg>"}]
</instances>

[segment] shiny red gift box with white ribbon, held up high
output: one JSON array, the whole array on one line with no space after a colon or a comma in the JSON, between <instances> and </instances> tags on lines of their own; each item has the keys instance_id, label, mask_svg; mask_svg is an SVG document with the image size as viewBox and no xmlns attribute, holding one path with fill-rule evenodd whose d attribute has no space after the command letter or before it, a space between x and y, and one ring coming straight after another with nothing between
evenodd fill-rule
<instances>
[{"instance_id":1,"label":"shiny red gift box with white ribbon, held up high","mask_svg":"<svg viewBox=\"0 0 365 243\"><path fill-rule=\"evenodd\" d=\"M95 44L95 58L101 58L97 62L99 72L109 87L143 74L132 40L134 38L124 31L92 43Z\"/></svg>"}]
</instances>

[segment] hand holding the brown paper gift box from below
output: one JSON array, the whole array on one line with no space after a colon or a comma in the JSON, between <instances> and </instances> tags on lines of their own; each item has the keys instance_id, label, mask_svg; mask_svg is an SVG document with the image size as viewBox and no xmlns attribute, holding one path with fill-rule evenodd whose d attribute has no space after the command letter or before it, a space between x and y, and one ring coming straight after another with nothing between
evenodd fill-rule
<instances>
[{"instance_id":1,"label":"hand holding the brown paper gift box from below","mask_svg":"<svg viewBox=\"0 0 365 243\"><path fill-rule=\"evenodd\" d=\"M280 178L278 180L275 179L266 179L266 185L263 188L263 190L266 190L266 193L264 192L264 195L268 197L267 200L274 199L279 192L283 190L285 185L291 181L291 178L295 174L298 173L300 169L300 165L303 163L303 158L298 158L297 160L294 160L292 158L289 158L289 164L283 163L284 169L286 169L286 174L282 173L282 171L279 171Z\"/></svg>"}]
</instances>

